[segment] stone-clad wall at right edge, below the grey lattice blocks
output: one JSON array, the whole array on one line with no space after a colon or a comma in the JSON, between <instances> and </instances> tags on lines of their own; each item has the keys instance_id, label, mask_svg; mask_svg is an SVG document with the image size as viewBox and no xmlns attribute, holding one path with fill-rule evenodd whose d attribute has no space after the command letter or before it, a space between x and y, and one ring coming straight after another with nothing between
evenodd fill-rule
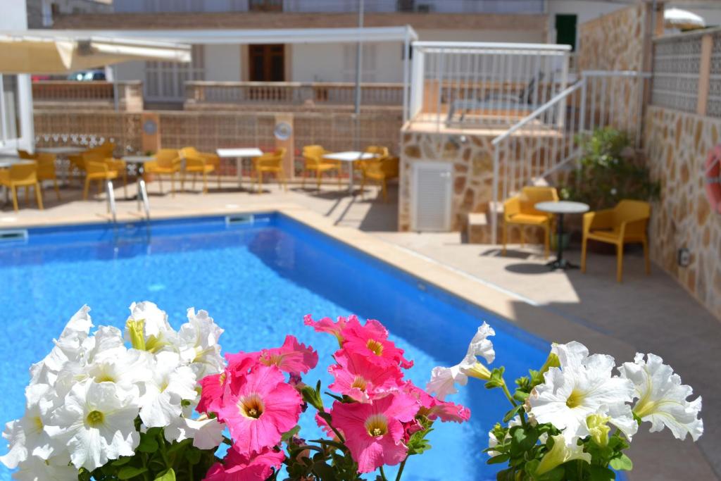
<instances>
[{"instance_id":1,"label":"stone-clad wall at right edge, below the grey lattice blocks","mask_svg":"<svg viewBox=\"0 0 721 481\"><path fill-rule=\"evenodd\" d=\"M704 190L704 163L720 136L720 119L663 107L647 111L645 153L661 183L649 229L652 258L721 319L721 214ZM686 268L676 262L681 247L691 251Z\"/></svg>"}]
</instances>

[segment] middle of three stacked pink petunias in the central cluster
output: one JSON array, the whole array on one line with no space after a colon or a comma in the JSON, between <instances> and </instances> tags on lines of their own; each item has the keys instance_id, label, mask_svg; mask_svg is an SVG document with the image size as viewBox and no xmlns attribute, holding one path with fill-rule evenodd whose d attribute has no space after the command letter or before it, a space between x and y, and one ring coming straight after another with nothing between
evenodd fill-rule
<instances>
[{"instance_id":1,"label":"middle of three stacked pink petunias in the central cluster","mask_svg":"<svg viewBox=\"0 0 721 481\"><path fill-rule=\"evenodd\" d=\"M379 366L373 359L344 349L335 353L335 360L337 364L328 368L335 378L329 389L358 402L368 402L402 386L403 373L398 366Z\"/></svg>"}]
</instances>

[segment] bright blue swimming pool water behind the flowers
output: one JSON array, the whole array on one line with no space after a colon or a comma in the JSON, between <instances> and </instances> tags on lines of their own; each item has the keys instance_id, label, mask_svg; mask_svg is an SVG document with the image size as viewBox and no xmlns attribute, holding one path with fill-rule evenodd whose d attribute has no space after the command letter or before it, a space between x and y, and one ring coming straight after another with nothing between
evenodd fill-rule
<instances>
[{"instance_id":1,"label":"bright blue swimming pool water behind the flowers","mask_svg":"<svg viewBox=\"0 0 721 481\"><path fill-rule=\"evenodd\" d=\"M460 361L484 320L496 330L506 379L540 366L547 354L546 343L507 322L279 214L231 226L223 217L154 221L150 236L143 224L115 234L106 226L31 229L27 242L0 245L0 286L2 422L22 415L30 363L45 356L83 304L95 325L118 327L131 301L156 302L174 327L187 307L206 309L226 330L225 352L274 347L296 335L321 359L306 381L324 386L337 343L305 327L304 314L381 320L415 360L408 376L420 386L433 366ZM495 480L481 451L508 402L474 379L453 400L471 409L471 422L436 423L433 449L409 460L404 480ZM301 424L304 437L319 435L311 419ZM9 479L0 467L0 480Z\"/></svg>"}]
</instances>

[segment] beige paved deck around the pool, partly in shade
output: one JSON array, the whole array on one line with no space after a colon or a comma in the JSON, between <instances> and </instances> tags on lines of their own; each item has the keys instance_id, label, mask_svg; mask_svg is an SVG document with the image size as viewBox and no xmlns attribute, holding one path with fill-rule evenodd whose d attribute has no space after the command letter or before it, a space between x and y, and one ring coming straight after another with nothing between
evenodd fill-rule
<instances>
[{"instance_id":1,"label":"beige paved deck around the pool, partly in shade","mask_svg":"<svg viewBox=\"0 0 721 481\"><path fill-rule=\"evenodd\" d=\"M247 185L247 184L246 184ZM282 209L327 234L354 244L384 260L455 291L508 317L526 330L558 342L582 340L590 350L630 360L637 350L653 352L671 363L687 384L704 397L706 433L699 444L674 440L668 431L640 433L634 439L632 480L716 480L721 472L721 322L709 314L660 268L643 275L639 255L628 255L624 283L615 281L613 257L592 255L588 273L577 270L550 273L534 249L512 249L500 257L495 247L463 244L460 234L415 234L395 231L395 192L390 203L368 190L365 199L337 190L335 183L319 193L291 186L287 193L275 185L258 195L238 192L234 184L209 195L156 195L151 208L157 216L211 211ZM166 183L167 187L167 183ZM131 187L131 194L133 188ZM44 198L45 211L30 208L19 214L6 206L0 229L28 224L105 221L102 200L83 202L79 190L63 190L58 203L52 190ZM123 189L116 190L123 195ZM134 201L120 200L121 219L136 215ZM369 234L369 235L368 235ZM578 250L570 250L578 260ZM499 363L503 360L499 359ZM645 429L642 429L645 431ZM700 448L700 449L699 449Z\"/></svg>"}]
</instances>

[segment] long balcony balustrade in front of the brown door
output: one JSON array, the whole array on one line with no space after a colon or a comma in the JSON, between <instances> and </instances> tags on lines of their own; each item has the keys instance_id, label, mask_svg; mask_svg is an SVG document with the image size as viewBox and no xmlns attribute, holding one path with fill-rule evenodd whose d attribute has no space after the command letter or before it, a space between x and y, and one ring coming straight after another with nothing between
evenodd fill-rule
<instances>
[{"instance_id":1,"label":"long balcony balustrade in front of the brown door","mask_svg":"<svg viewBox=\"0 0 721 481\"><path fill-rule=\"evenodd\" d=\"M185 107L203 105L259 107L338 107L355 102L355 84L345 82L185 82ZM402 84L363 84L361 105L402 107Z\"/></svg>"}]
</instances>

